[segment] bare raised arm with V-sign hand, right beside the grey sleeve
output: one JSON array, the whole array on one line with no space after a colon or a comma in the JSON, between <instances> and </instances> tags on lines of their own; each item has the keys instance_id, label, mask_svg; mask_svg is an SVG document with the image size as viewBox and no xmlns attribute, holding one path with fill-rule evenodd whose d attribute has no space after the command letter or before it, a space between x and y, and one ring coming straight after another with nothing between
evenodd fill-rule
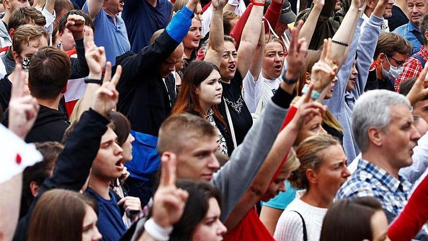
<instances>
[{"instance_id":1,"label":"bare raised arm with V-sign hand, right beside the grey sleeve","mask_svg":"<svg viewBox=\"0 0 428 241\"><path fill-rule=\"evenodd\" d=\"M303 124L312 119L315 115L320 115L324 111L322 105L318 102L311 101L311 91L305 95L303 103L297 112L290 111L285 118L283 126L277 136L272 148L270 149L265 162L260 167L250 188L235 206L228 220L225 222L228 230L232 231L239 222L245 217L250 209L260 201L262 196L267 192L270 181L279 168L281 168L289 149L293 146L297 134L302 129ZM294 118L293 118L294 116ZM287 123L288 119L292 119Z\"/></svg>"}]
</instances>

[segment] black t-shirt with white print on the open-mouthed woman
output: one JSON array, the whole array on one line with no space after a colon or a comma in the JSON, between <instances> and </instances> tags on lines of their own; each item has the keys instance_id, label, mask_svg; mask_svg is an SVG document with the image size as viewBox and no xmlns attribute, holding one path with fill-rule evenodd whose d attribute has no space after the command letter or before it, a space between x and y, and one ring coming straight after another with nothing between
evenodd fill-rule
<instances>
[{"instance_id":1,"label":"black t-shirt with white print on the open-mouthed woman","mask_svg":"<svg viewBox=\"0 0 428 241\"><path fill-rule=\"evenodd\" d=\"M233 76L229 84L222 82L221 85L223 86L223 96L221 103L218 105L218 110L225 121L228 122L225 109L226 102L229 112L231 113L236 144L239 145L252 126L251 113L241 94L242 76L236 71L235 76Z\"/></svg>"}]
</instances>

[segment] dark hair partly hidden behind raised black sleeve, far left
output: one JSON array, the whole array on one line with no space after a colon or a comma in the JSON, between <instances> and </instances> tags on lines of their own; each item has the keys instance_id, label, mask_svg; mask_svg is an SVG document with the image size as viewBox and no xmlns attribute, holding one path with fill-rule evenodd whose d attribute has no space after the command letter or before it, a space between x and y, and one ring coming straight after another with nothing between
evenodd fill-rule
<instances>
[{"instance_id":1,"label":"dark hair partly hidden behind raised black sleeve, far left","mask_svg":"<svg viewBox=\"0 0 428 241\"><path fill-rule=\"evenodd\" d=\"M36 182L41 186L43 181L48 178L54 169L56 159L61 153L64 146L58 142L41 142L36 143L36 149L40 151L43 160L34 166L26 167L22 174L22 199L19 217L27 214L28 208L34 200L30 189L30 183Z\"/></svg>"}]
</instances>

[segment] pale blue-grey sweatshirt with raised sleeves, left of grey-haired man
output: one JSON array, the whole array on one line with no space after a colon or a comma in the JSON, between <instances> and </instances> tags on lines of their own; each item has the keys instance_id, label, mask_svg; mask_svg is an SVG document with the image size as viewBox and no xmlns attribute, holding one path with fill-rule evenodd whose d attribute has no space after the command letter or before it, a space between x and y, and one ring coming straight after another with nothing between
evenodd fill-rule
<instances>
[{"instance_id":1,"label":"pale blue-grey sweatshirt with raised sleeves, left of grey-haired man","mask_svg":"<svg viewBox=\"0 0 428 241\"><path fill-rule=\"evenodd\" d=\"M352 110L345 102L346 84L348 83L352 64L355 59L355 53L358 49L358 76L353 94L357 99L363 93L365 83L367 81L369 67L373 62L373 55L375 53L377 39L380 35L380 24L382 24L382 21L383 19L377 18L372 14L360 36L360 26L363 22L363 19L360 18L358 20L357 29L354 33L349 54L337 75L338 82L334 86L333 95L331 99L324 100L324 104L328 106L328 109L339 120L340 125L344 130L343 148L345 150L346 158L348 159L348 164L350 164L350 162L352 162L358 155L359 149L357 144L354 142L351 128Z\"/></svg>"}]
</instances>

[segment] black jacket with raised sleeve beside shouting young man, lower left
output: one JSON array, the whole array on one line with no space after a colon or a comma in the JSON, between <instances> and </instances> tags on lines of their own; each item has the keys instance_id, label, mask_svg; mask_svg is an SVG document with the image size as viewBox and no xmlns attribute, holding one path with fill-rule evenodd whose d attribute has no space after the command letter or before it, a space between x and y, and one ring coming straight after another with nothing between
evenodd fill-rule
<instances>
[{"instance_id":1,"label":"black jacket with raised sleeve beside shouting young man, lower left","mask_svg":"<svg viewBox=\"0 0 428 241\"><path fill-rule=\"evenodd\" d=\"M67 139L64 150L58 156L54 174L43 182L27 215L19 221L14 241L27 240L31 214L43 193L54 188L72 191L79 191L82 188L89 176L92 161L100 148L101 136L106 133L108 122L104 116L93 110L83 113Z\"/></svg>"}]
</instances>

